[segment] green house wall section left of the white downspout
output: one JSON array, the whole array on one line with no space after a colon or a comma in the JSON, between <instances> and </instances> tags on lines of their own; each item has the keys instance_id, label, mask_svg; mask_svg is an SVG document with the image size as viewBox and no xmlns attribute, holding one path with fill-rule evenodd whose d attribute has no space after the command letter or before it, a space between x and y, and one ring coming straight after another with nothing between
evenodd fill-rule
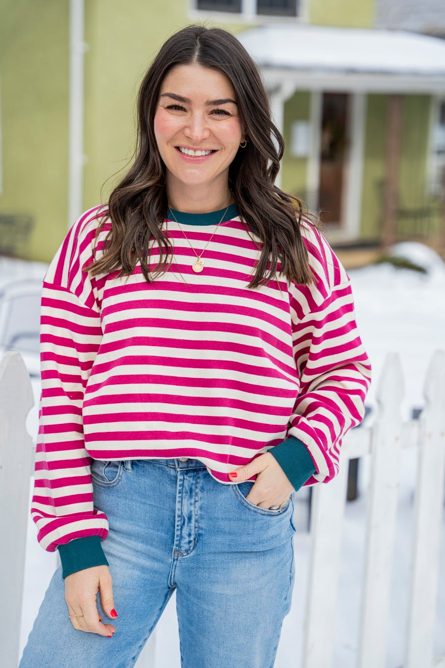
<instances>
[{"instance_id":1,"label":"green house wall section left of the white downspout","mask_svg":"<svg viewBox=\"0 0 445 668\"><path fill-rule=\"evenodd\" d=\"M48 261L67 230L68 3L0 4L0 212L33 216L23 257Z\"/></svg>"}]
</instances>

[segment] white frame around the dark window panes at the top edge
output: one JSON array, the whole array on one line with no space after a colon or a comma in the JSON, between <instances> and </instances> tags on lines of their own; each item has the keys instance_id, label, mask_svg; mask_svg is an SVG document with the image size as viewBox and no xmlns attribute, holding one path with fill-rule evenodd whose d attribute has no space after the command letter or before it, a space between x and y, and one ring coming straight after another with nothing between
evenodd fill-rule
<instances>
[{"instance_id":1,"label":"white frame around the dark window panes at the top edge","mask_svg":"<svg viewBox=\"0 0 445 668\"><path fill-rule=\"evenodd\" d=\"M298 0L297 0L298 1ZM197 9L197 0L188 0L189 9L187 18L193 21L201 21L209 17L213 21L221 23L309 23L310 0L299 0L300 13L298 16L272 16L270 14L256 13L256 0L241 0L241 11L211 11L211 9Z\"/></svg>"}]
</instances>

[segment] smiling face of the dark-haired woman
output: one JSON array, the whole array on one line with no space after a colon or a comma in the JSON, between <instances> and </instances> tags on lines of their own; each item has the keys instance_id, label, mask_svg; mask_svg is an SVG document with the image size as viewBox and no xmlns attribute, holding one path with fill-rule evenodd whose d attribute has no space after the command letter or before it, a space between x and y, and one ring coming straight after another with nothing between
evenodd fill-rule
<instances>
[{"instance_id":1,"label":"smiling face of the dark-haired woman","mask_svg":"<svg viewBox=\"0 0 445 668\"><path fill-rule=\"evenodd\" d=\"M181 182L190 194L193 186L202 193L207 186L224 188L230 163L245 138L236 102L230 79L215 69L195 63L176 65L167 73L154 118L167 184ZM178 147L212 152L193 157Z\"/></svg>"}]
</instances>

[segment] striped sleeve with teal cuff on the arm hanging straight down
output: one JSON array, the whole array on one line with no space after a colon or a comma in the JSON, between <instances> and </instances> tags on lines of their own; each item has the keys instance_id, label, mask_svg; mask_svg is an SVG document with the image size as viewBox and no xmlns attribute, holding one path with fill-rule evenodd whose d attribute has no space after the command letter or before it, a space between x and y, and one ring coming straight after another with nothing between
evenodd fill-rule
<instances>
[{"instance_id":1,"label":"striped sleeve with teal cuff on the arm hanging straight down","mask_svg":"<svg viewBox=\"0 0 445 668\"><path fill-rule=\"evenodd\" d=\"M108 564L101 548L108 520L93 508L92 458L83 441L83 393L102 330L92 286L79 265L81 222L59 248L41 300L41 400L31 517L43 549L59 549L63 578Z\"/></svg>"}]
</instances>

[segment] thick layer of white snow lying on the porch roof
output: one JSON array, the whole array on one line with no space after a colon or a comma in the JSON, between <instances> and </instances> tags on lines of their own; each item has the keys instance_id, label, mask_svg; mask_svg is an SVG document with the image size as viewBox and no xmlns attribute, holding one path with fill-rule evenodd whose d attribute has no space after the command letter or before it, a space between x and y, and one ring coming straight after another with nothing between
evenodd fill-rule
<instances>
[{"instance_id":1,"label":"thick layer of white snow lying on the porch roof","mask_svg":"<svg viewBox=\"0 0 445 668\"><path fill-rule=\"evenodd\" d=\"M236 36L262 67L445 76L445 42L429 35L286 23Z\"/></svg>"}]
</instances>

